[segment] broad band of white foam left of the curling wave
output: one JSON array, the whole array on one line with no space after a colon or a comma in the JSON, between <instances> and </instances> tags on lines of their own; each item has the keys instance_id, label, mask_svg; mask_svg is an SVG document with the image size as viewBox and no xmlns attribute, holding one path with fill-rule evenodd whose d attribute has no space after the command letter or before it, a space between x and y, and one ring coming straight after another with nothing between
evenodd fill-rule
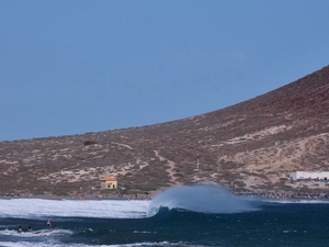
<instances>
[{"instance_id":1,"label":"broad band of white foam left of the curling wave","mask_svg":"<svg viewBox=\"0 0 329 247\"><path fill-rule=\"evenodd\" d=\"M138 218L146 217L149 203L147 200L1 199L0 217Z\"/></svg>"}]
</instances>

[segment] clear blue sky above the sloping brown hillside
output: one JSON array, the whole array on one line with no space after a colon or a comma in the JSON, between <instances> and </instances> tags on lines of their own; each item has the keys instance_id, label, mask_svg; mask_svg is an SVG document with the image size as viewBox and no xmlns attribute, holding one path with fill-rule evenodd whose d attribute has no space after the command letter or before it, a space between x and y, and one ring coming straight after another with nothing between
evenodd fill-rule
<instances>
[{"instance_id":1,"label":"clear blue sky above the sloping brown hillside","mask_svg":"<svg viewBox=\"0 0 329 247\"><path fill-rule=\"evenodd\" d=\"M328 0L1 0L0 141L198 115L328 64Z\"/></svg>"}]
</instances>

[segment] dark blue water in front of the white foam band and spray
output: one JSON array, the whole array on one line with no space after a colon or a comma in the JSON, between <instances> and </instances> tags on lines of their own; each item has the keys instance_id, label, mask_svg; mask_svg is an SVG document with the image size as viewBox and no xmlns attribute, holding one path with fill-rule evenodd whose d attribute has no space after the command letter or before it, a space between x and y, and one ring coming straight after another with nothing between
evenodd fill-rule
<instances>
[{"instance_id":1,"label":"dark blue water in front of the white foam band and spray","mask_svg":"<svg viewBox=\"0 0 329 247\"><path fill-rule=\"evenodd\" d=\"M0 246L329 246L326 201L247 202L252 205L240 212L164 206L154 216L134 218L53 216L54 228L45 217L0 217Z\"/></svg>"}]
</instances>

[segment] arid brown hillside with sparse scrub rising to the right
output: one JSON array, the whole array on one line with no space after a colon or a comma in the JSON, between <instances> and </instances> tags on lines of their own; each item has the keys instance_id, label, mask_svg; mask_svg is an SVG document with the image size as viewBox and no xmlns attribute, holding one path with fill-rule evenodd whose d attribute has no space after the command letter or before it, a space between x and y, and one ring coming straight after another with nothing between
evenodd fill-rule
<instances>
[{"instance_id":1,"label":"arid brown hillside with sparse scrub rising to the right","mask_svg":"<svg viewBox=\"0 0 329 247\"><path fill-rule=\"evenodd\" d=\"M102 177L152 191L216 182L236 192L300 188L329 170L329 66L246 102L143 127L0 143L0 193L100 191ZM198 169L197 155L200 156ZM326 190L324 184L308 189Z\"/></svg>"}]
</instances>

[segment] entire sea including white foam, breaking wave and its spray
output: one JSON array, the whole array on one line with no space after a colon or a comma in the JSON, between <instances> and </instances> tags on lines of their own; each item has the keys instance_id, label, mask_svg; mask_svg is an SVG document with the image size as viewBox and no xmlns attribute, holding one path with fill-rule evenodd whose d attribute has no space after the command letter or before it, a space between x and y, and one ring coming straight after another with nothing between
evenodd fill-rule
<instances>
[{"instance_id":1,"label":"entire sea including white foam, breaking wave and its spray","mask_svg":"<svg viewBox=\"0 0 329 247\"><path fill-rule=\"evenodd\" d=\"M322 247L329 202L235 197L209 184L148 201L0 199L0 246Z\"/></svg>"}]
</instances>

